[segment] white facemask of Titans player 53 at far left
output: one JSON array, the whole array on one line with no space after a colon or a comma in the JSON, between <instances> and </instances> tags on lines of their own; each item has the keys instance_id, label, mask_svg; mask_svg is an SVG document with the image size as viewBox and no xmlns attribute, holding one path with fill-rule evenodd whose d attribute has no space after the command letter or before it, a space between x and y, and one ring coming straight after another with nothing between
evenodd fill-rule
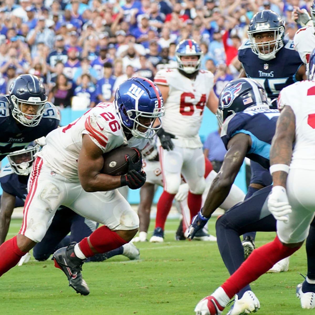
<instances>
[{"instance_id":1,"label":"white facemask of Titans player 53 at far left","mask_svg":"<svg viewBox=\"0 0 315 315\"><path fill-rule=\"evenodd\" d=\"M31 96L28 100L23 100L18 98L17 96L11 94L10 100L12 102L12 116L15 120L21 123L23 126L26 127L35 127L39 124L40 120L43 117L45 104L47 102L47 96L45 100L41 100L40 97ZM22 111L22 106L24 105L33 105L38 106L37 112L35 115L25 114Z\"/></svg>"}]
</instances>

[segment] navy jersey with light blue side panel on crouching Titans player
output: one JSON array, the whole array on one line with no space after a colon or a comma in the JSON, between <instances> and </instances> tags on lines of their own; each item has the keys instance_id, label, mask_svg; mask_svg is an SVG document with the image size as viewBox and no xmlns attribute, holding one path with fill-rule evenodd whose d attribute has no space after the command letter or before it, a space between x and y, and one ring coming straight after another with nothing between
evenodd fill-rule
<instances>
[{"instance_id":1,"label":"navy jersey with light blue side panel on crouching Titans player","mask_svg":"<svg viewBox=\"0 0 315 315\"><path fill-rule=\"evenodd\" d=\"M271 140L276 131L279 115L278 109L264 109L245 110L227 117L221 131L221 139L226 149L234 135L239 133L250 135L252 146L246 157L269 169Z\"/></svg>"}]
</instances>

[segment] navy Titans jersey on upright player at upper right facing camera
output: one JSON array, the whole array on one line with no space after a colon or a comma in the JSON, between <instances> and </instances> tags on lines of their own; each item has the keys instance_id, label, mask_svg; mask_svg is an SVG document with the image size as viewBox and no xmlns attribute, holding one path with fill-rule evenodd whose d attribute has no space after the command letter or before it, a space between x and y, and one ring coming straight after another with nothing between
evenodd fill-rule
<instances>
[{"instance_id":1,"label":"navy Titans jersey on upright player at upper right facing camera","mask_svg":"<svg viewBox=\"0 0 315 315\"><path fill-rule=\"evenodd\" d=\"M242 63L247 77L259 82L271 100L277 98L284 87L297 81L296 72L303 65L291 40L284 43L276 58L268 61L258 58L250 48L250 41L247 40L238 49L238 60Z\"/></svg>"}]
</instances>

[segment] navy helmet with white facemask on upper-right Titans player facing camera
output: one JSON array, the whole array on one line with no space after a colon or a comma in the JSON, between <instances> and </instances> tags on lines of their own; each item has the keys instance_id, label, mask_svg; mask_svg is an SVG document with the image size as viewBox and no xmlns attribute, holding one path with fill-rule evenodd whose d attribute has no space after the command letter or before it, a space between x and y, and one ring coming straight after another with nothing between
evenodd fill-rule
<instances>
[{"instance_id":1,"label":"navy helmet with white facemask on upper-right Titans player facing camera","mask_svg":"<svg viewBox=\"0 0 315 315\"><path fill-rule=\"evenodd\" d=\"M255 35L262 32L274 32L274 39L264 43L256 43ZM276 57L277 51L284 45L284 21L280 15L272 10L257 12L249 22L248 38L252 52L262 60L271 60ZM270 46L274 45L273 48ZM260 49L263 49L261 51Z\"/></svg>"}]
</instances>

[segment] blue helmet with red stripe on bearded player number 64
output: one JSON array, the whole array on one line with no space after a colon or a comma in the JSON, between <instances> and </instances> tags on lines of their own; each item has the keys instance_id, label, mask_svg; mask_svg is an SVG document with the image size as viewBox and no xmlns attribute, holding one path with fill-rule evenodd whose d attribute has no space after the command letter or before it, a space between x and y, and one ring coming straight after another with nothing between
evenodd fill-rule
<instances>
[{"instance_id":1,"label":"blue helmet with red stripe on bearded player number 64","mask_svg":"<svg viewBox=\"0 0 315 315\"><path fill-rule=\"evenodd\" d=\"M198 43L196 43L193 39L185 39L176 46L175 56L177 60L177 68L191 74L200 69L203 52L201 51ZM198 56L198 60L182 61L182 56Z\"/></svg>"}]
</instances>

